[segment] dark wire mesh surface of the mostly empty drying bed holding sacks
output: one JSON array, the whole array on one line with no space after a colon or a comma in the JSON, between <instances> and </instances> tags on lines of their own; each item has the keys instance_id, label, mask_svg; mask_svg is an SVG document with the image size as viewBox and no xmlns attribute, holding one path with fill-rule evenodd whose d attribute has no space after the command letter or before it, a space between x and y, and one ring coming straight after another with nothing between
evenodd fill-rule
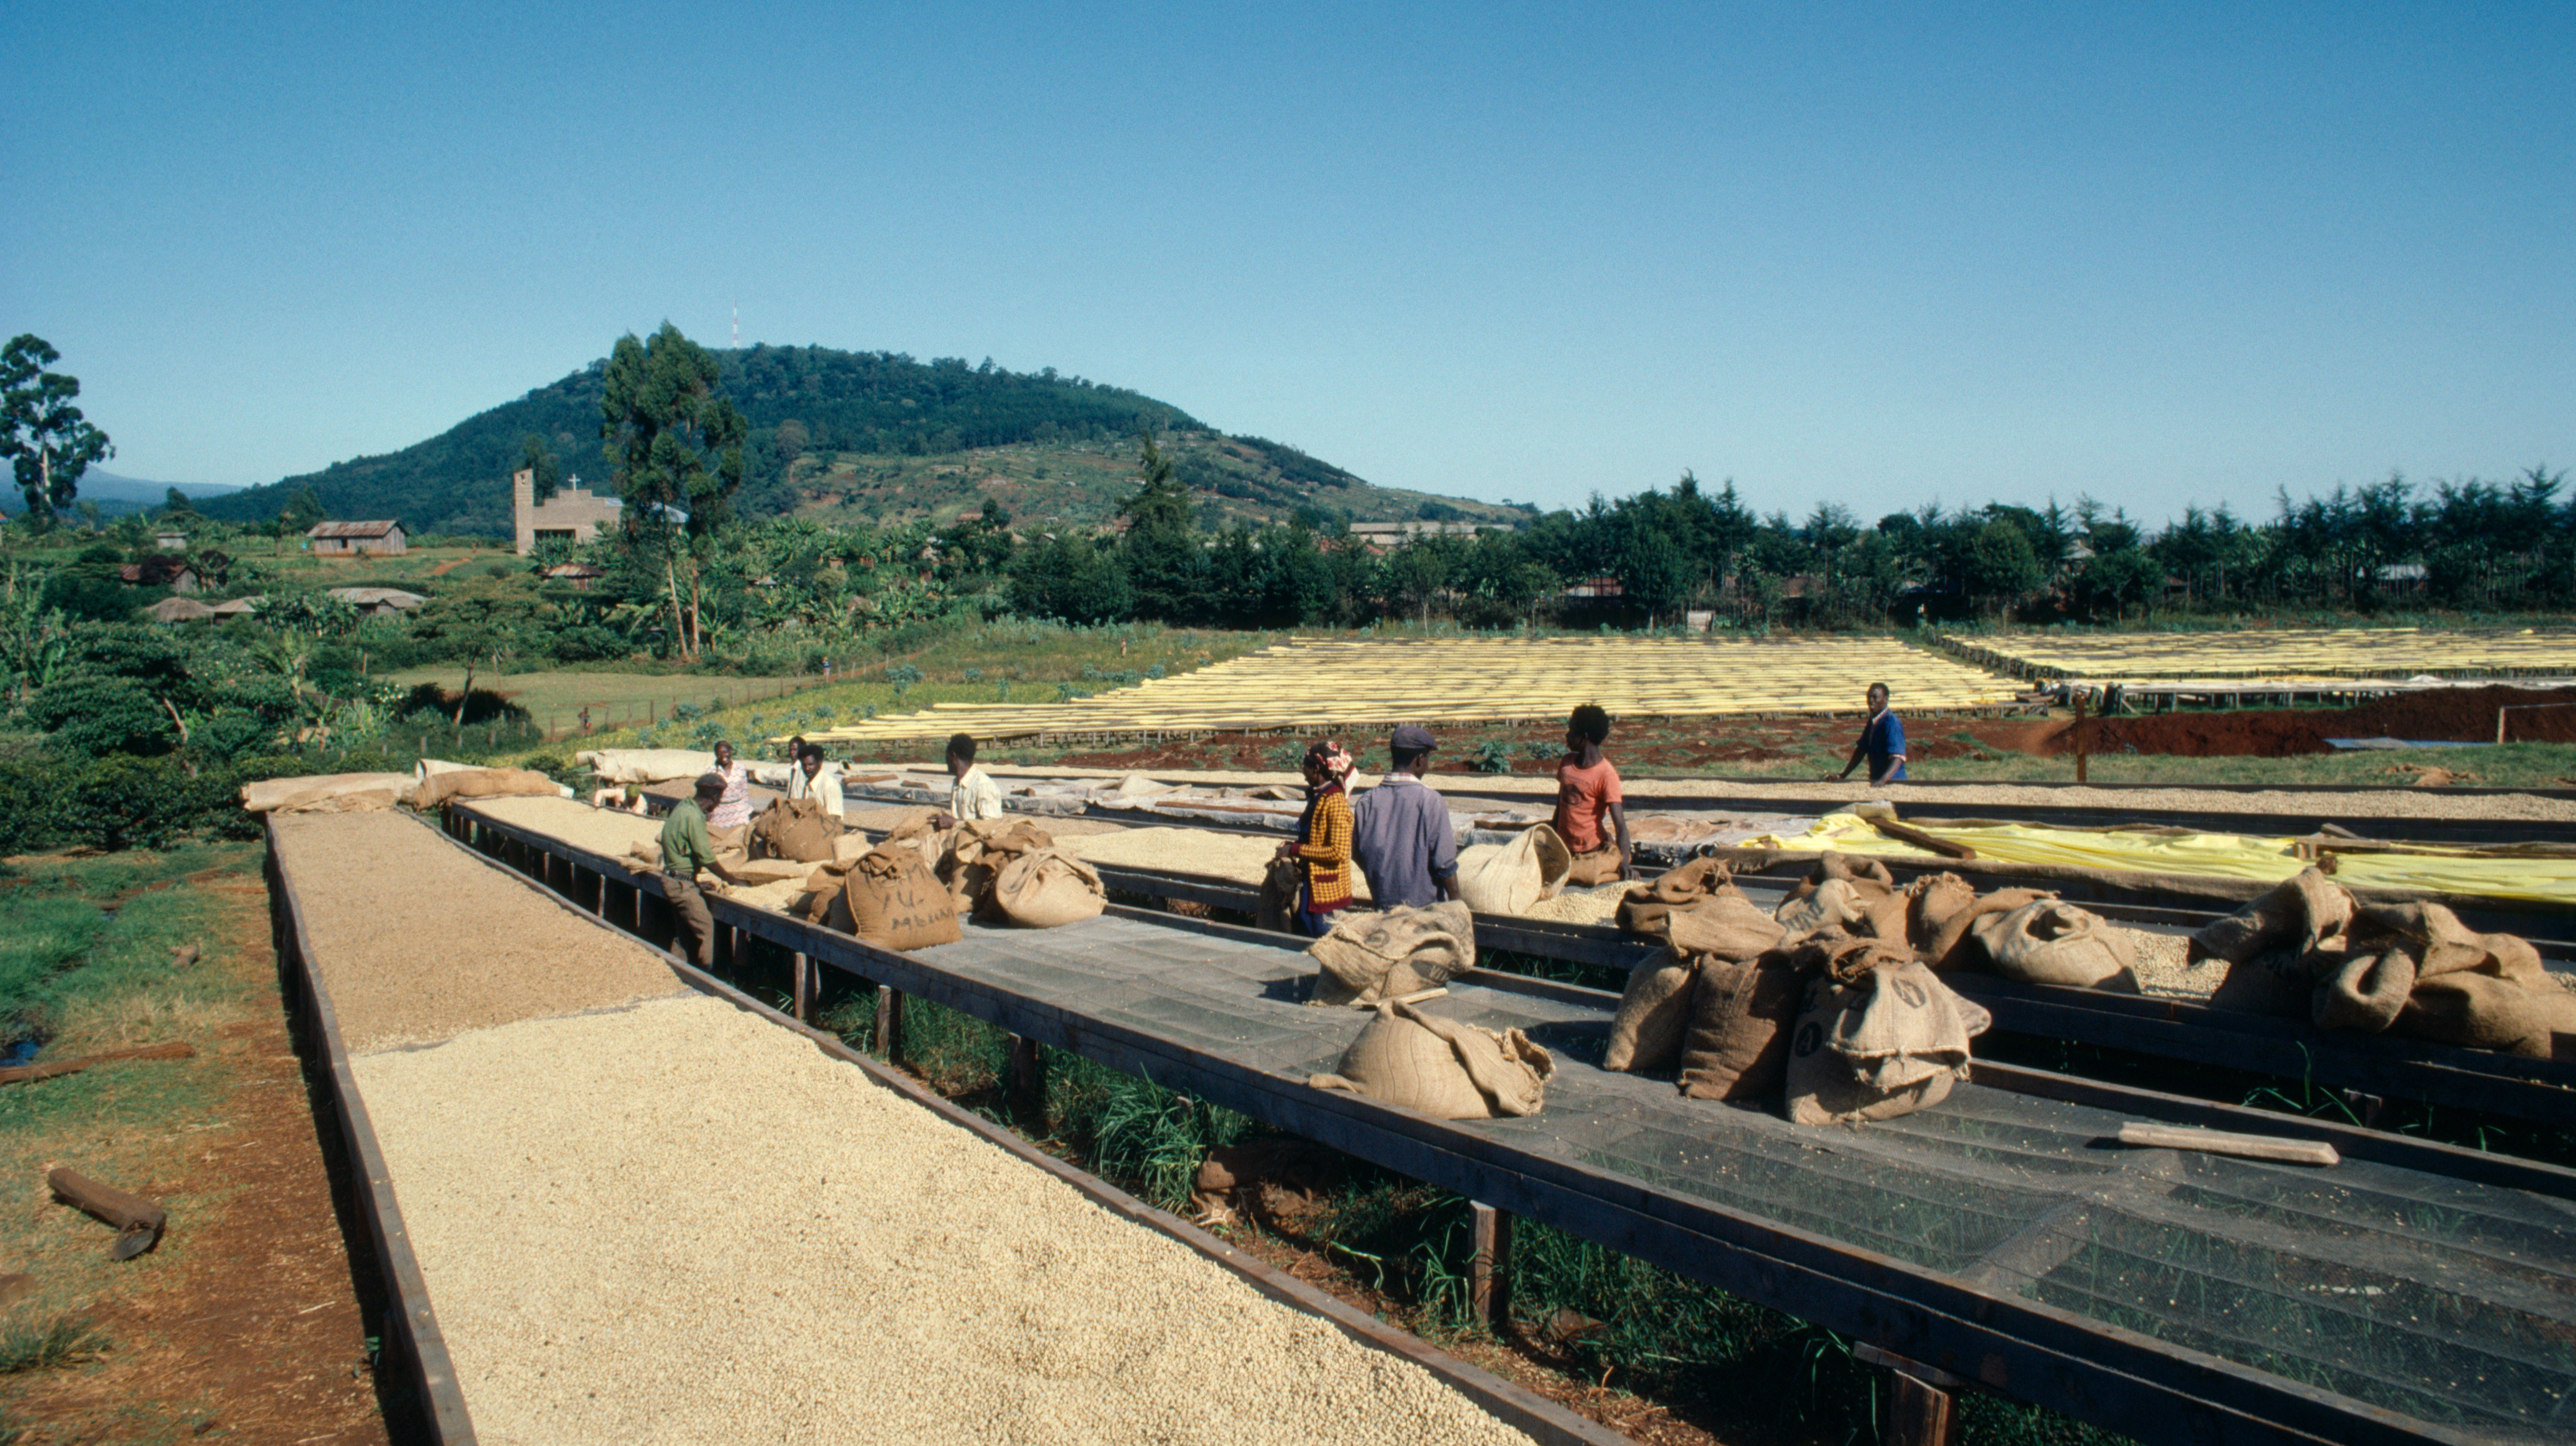
<instances>
[{"instance_id":1,"label":"dark wire mesh surface of the mostly empty drying bed holding sacks","mask_svg":"<svg viewBox=\"0 0 2576 1446\"><path fill-rule=\"evenodd\" d=\"M1291 1080L1365 1023L1303 1005L1293 946L1139 920L969 930L917 959ZM1543 1113L1463 1129L2424 1423L2576 1441L2566 1199L2128 1150L2123 1113L1973 1083L1886 1124L1795 1126L1600 1070L1610 1003L1453 982L1422 1005L1556 1054Z\"/></svg>"}]
</instances>

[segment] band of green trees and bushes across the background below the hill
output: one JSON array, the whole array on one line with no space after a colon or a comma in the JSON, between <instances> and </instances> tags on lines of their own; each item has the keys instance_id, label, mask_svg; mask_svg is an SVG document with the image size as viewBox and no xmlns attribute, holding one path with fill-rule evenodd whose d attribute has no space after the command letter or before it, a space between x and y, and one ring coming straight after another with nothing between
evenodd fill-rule
<instances>
[{"instance_id":1,"label":"band of green trees and bushes across the background below the hill","mask_svg":"<svg viewBox=\"0 0 2576 1446\"><path fill-rule=\"evenodd\" d=\"M178 827L170 820L211 817L204 809L240 778L309 771L325 740L389 750L446 732L464 747L471 724L507 711L474 688L477 675L556 665L786 675L835 660L848 670L999 613L1592 629L1682 626L1698 611L1713 626L1875 629L2576 603L2576 500L2543 467L2501 485L2388 479L2282 495L2262 523L2192 508L2164 528L2089 500L1922 508L1875 523L1821 505L1801 523L1757 516L1731 482L1708 490L1685 474L1579 510L1530 510L1510 531L1388 544L1321 513L1211 534L1198 492L1149 430L1115 528L1028 534L992 500L940 523L742 521L742 412L714 358L665 325L621 338L600 376L592 436L626 503L613 534L580 549L549 541L531 559L474 559L407 583L425 593L415 611L366 613L330 590L379 580L366 562L325 570L291 552L289 539L319 518L309 492L252 523L204 516L173 492L160 526L95 516L64 526L80 469L108 441L72 407L77 381L46 371L52 361L41 340L18 338L0 363L0 443L28 503L0 534L0 817L13 820L0 843L18 848L152 838ZM523 443L523 459L551 467L544 438ZM247 611L144 619L167 588L126 570L162 562L155 534L170 526L188 534L198 598L245 598ZM464 688L384 680L425 662L464 665ZM142 794L180 802L152 812L134 804Z\"/></svg>"}]
</instances>

